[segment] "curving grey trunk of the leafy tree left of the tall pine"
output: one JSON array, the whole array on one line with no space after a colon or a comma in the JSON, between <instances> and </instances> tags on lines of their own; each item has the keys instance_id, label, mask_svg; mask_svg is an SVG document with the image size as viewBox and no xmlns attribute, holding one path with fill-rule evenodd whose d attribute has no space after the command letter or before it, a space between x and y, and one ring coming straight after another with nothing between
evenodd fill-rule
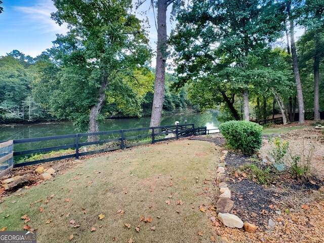
<instances>
[{"instance_id":1,"label":"curving grey trunk of the leafy tree left of the tall pine","mask_svg":"<svg viewBox=\"0 0 324 243\"><path fill-rule=\"evenodd\" d=\"M100 110L101 110L104 100L106 98L105 88L106 88L107 84L108 84L108 77L106 75L106 72L104 71L103 75L102 75L102 81L101 81L101 86L99 89L99 97L98 97L97 103L90 108L89 131L88 131L89 133L99 132L99 125L98 125L97 117L100 113ZM95 142L98 140L99 140L99 136L96 136L96 135L88 137L89 142Z\"/></svg>"}]
</instances>

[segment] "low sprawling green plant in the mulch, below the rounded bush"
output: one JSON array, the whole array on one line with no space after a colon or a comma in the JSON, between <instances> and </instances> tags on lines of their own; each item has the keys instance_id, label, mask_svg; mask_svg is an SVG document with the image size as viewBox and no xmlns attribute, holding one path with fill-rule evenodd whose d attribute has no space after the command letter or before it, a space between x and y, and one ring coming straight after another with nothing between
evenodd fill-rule
<instances>
[{"instance_id":1,"label":"low sprawling green plant in the mulch, below the rounded bush","mask_svg":"<svg viewBox=\"0 0 324 243\"><path fill-rule=\"evenodd\" d=\"M262 185L269 185L271 182L273 182L270 167L263 170L256 165L246 164L240 167L239 170L246 173L250 180L257 180Z\"/></svg>"}]
</instances>

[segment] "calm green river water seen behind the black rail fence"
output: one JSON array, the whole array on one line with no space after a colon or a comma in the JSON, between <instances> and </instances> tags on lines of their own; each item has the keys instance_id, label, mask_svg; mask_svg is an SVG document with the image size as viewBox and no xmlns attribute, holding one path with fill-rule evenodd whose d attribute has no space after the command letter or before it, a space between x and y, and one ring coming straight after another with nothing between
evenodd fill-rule
<instances>
[{"instance_id":1,"label":"calm green river water seen behind the black rail fence","mask_svg":"<svg viewBox=\"0 0 324 243\"><path fill-rule=\"evenodd\" d=\"M217 115L217 112L212 111L208 111L203 114L188 113L179 115L164 115L161 120L161 125L174 125L175 121L179 121L180 124L185 124L185 120L187 120L187 124L193 123L195 127L207 126L208 129L213 129L219 126ZM99 130L112 131L130 128L145 128L149 127L149 124L150 117L109 119L104 120L99 125ZM85 133L87 131L76 131L75 127L70 121L22 124L14 126L3 125L0 126L0 141L75 134L78 132Z\"/></svg>"}]
</instances>

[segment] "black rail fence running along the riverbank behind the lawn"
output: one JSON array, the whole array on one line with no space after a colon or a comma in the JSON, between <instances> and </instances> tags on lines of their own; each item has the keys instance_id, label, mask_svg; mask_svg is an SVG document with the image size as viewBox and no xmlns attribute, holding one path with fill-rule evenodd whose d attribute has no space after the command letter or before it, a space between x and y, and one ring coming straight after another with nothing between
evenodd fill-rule
<instances>
[{"instance_id":1,"label":"black rail fence running along the riverbank behind the lawn","mask_svg":"<svg viewBox=\"0 0 324 243\"><path fill-rule=\"evenodd\" d=\"M116 149L124 149L133 146L138 146L142 144L155 143L160 141L178 139L182 137L192 136L192 135L204 135L207 134L208 130L206 127L195 128L194 124L185 125L173 125L173 126L160 126L160 127L148 127L148 128L134 128L125 130L114 130L114 131L104 131L97 133L80 133L80 134L69 134L62 136L51 136L51 137L40 137L40 138L27 138L13 140L15 149L13 156L15 158L25 157L28 161L22 160L13 164L14 168L29 166L39 163L45 163L48 161L71 158L76 159L79 156L93 154L98 152L106 152ZM98 136L97 141L88 141L89 136ZM46 146L46 141L61 140L64 145L58 146ZM1 143L1 142L0 142ZM41 148L35 148L31 143L41 144ZM66 144L67 143L67 144ZM20 144L28 144L27 150L18 150ZM57 144L57 143L56 143ZM60 143L58 143L60 144ZM91 147L91 145L95 145ZM86 146L90 146L91 149L88 150ZM17 148L17 149L16 149ZM59 153L59 156L41 158L30 161L28 156L37 155L39 153L49 153L52 151L64 150L65 153ZM62 155L63 154L63 155ZM17 159L19 160L19 159Z\"/></svg>"}]
</instances>

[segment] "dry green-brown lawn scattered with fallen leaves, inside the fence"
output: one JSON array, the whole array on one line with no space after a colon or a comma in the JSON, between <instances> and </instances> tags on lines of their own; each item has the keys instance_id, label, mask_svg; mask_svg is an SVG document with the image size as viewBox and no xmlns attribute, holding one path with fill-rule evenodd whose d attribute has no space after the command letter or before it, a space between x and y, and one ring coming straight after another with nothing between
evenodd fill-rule
<instances>
[{"instance_id":1,"label":"dry green-brown lawn scattered with fallen leaves, inside the fence","mask_svg":"<svg viewBox=\"0 0 324 243\"><path fill-rule=\"evenodd\" d=\"M63 175L5 197L0 228L22 230L21 216L26 214L31 219L26 224L37 228L39 243L129 242L130 238L134 242L211 242L216 235L207 208L212 206L209 196L220 156L215 148L210 142L178 140L82 160ZM39 199L43 200L34 203ZM105 216L101 220L100 214ZM141 217L152 222L144 223Z\"/></svg>"}]
</instances>

